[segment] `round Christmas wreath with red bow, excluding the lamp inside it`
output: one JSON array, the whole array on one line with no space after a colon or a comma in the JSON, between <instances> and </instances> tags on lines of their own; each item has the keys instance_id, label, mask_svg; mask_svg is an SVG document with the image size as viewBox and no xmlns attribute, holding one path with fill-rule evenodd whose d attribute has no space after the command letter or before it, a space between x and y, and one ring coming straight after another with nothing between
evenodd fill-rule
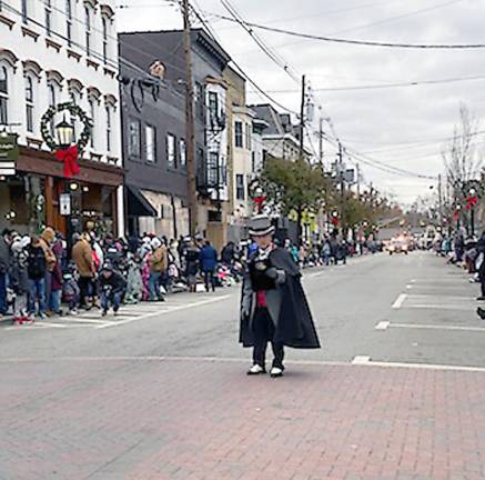
<instances>
[{"instance_id":1,"label":"round Christmas wreath with red bow, excluding the lamp inside it","mask_svg":"<svg viewBox=\"0 0 485 480\"><path fill-rule=\"evenodd\" d=\"M82 132L75 144L60 149L52 137L50 124L57 113L69 111L71 118L77 117L83 124ZM40 131L46 144L54 152L55 158L64 163L64 177L71 178L80 172L78 157L82 153L91 138L92 120L81 107L72 102L50 107L40 120Z\"/></svg>"}]
</instances>

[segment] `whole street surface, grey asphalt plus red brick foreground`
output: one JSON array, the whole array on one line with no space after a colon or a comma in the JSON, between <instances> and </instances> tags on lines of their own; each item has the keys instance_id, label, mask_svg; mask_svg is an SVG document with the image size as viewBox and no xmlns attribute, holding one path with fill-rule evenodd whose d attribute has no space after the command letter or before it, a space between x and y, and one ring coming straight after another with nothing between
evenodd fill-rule
<instances>
[{"instance_id":1,"label":"whole street surface, grey asphalt plus red brick foreground","mask_svg":"<svg viewBox=\"0 0 485 480\"><path fill-rule=\"evenodd\" d=\"M273 381L239 288L0 328L0 480L485 478L478 286L413 252L304 287L323 348Z\"/></svg>"}]
</instances>

